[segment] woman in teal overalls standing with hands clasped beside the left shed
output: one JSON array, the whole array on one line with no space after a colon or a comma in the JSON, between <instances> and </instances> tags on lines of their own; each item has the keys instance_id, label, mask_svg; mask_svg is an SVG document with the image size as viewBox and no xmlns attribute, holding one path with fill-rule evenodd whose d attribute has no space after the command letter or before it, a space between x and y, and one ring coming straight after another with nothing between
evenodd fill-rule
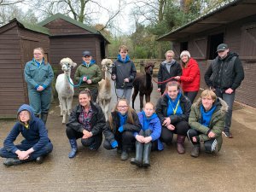
<instances>
[{"instance_id":1,"label":"woman in teal overalls standing with hands clasped beside the left shed","mask_svg":"<svg viewBox=\"0 0 256 192\"><path fill-rule=\"evenodd\" d=\"M49 62L44 57L44 49L34 49L33 55L32 61L26 63L24 70L29 105L33 108L33 112L37 117L41 114L41 119L46 124L51 100L51 82L54 78L54 73Z\"/></svg>"}]
</instances>

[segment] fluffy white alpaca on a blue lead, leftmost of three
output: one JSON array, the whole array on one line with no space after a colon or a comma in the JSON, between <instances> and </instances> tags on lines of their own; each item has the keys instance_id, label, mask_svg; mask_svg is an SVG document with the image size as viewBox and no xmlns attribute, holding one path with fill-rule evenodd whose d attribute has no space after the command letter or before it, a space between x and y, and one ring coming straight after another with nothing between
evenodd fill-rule
<instances>
[{"instance_id":1,"label":"fluffy white alpaca on a blue lead, leftmost of three","mask_svg":"<svg viewBox=\"0 0 256 192\"><path fill-rule=\"evenodd\" d=\"M67 115L70 115L73 101L73 80L70 78L71 67L76 67L77 64L70 58L61 59L61 70L63 73L59 74L56 79L55 88L58 92L60 101L61 116L63 116L62 124L66 123ZM68 80L69 79L69 80Z\"/></svg>"}]
</instances>

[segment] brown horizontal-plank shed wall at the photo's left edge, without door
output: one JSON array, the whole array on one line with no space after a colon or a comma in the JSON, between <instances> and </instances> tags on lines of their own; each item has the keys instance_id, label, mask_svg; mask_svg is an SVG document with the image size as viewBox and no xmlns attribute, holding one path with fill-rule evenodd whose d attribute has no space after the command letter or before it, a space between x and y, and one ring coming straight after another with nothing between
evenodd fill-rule
<instances>
[{"instance_id":1,"label":"brown horizontal-plank shed wall at the photo's left edge, without door","mask_svg":"<svg viewBox=\"0 0 256 192\"><path fill-rule=\"evenodd\" d=\"M15 114L20 103L25 102L20 59L20 40L15 26L0 35L0 116Z\"/></svg>"}]
</instances>

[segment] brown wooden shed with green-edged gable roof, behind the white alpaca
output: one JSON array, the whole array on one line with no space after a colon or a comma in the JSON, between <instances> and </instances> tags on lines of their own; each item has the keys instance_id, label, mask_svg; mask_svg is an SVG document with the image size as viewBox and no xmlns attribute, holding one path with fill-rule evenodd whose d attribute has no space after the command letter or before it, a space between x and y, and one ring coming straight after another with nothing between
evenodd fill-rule
<instances>
[{"instance_id":1,"label":"brown wooden shed with green-edged gable roof, behind the white alpaca","mask_svg":"<svg viewBox=\"0 0 256 192\"><path fill-rule=\"evenodd\" d=\"M107 55L108 39L96 29L73 20L72 18L56 14L39 23L49 29L49 52L51 65L60 72L59 62L63 57L70 57L74 62L82 63L82 53L90 50L93 59L100 64Z\"/></svg>"}]
</instances>

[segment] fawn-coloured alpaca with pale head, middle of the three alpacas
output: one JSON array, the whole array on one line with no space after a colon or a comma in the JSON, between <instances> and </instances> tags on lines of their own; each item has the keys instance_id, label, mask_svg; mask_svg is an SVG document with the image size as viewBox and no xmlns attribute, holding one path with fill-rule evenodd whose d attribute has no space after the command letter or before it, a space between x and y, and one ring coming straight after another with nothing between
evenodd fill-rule
<instances>
[{"instance_id":1,"label":"fawn-coloured alpaca with pale head, middle of the three alpacas","mask_svg":"<svg viewBox=\"0 0 256 192\"><path fill-rule=\"evenodd\" d=\"M110 59L103 59L102 60L102 71L105 72L105 79L102 79L99 82L99 93L97 97L97 101L101 106L106 120L108 119L108 106L111 101L111 67L113 65L113 61Z\"/></svg>"}]
</instances>

